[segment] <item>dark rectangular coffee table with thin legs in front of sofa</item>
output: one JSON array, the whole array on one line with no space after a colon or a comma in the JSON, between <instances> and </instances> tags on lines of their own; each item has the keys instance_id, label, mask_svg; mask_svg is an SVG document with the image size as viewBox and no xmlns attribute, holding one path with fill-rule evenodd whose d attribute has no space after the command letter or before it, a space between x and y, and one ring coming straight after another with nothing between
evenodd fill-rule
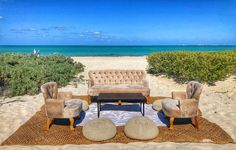
<instances>
[{"instance_id":1,"label":"dark rectangular coffee table with thin legs in front of sofa","mask_svg":"<svg viewBox=\"0 0 236 150\"><path fill-rule=\"evenodd\" d=\"M97 110L98 110L98 118L100 116L101 111L101 103L115 103L119 104L125 103L139 103L140 104L140 112L144 116L144 107L146 103L146 97L142 95L142 93L100 93L97 98Z\"/></svg>"}]
</instances>

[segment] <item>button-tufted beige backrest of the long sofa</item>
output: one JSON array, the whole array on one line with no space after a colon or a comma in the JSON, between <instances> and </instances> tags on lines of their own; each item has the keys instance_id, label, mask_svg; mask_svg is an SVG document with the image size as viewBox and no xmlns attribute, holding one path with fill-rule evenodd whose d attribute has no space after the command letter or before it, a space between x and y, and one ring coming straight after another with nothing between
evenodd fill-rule
<instances>
[{"instance_id":1,"label":"button-tufted beige backrest of the long sofa","mask_svg":"<svg viewBox=\"0 0 236 150\"><path fill-rule=\"evenodd\" d=\"M89 78L94 85L142 84L144 70L92 70Z\"/></svg>"}]
</instances>

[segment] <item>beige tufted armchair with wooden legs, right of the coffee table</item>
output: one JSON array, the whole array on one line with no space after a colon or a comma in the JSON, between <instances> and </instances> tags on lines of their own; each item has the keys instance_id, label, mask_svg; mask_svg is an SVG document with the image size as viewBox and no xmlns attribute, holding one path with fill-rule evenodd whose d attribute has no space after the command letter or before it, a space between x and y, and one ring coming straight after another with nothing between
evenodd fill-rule
<instances>
[{"instance_id":1,"label":"beige tufted armchair with wooden legs, right of the coffee table","mask_svg":"<svg viewBox=\"0 0 236 150\"><path fill-rule=\"evenodd\" d=\"M186 92L172 92L172 99L162 100L162 111L170 117L170 127L174 128L175 118L194 118L196 128L198 124L198 103L202 92L202 85L191 81L187 85Z\"/></svg>"}]
</instances>

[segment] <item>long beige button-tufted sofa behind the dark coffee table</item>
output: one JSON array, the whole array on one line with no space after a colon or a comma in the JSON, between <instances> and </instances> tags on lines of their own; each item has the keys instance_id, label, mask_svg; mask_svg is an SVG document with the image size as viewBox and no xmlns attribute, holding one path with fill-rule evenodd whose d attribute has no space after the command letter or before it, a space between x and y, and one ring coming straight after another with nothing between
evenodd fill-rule
<instances>
[{"instance_id":1,"label":"long beige button-tufted sofa behind the dark coffee table","mask_svg":"<svg viewBox=\"0 0 236 150\"><path fill-rule=\"evenodd\" d=\"M150 89L143 70L92 70L89 71L88 95L99 93L142 93L150 101Z\"/></svg>"}]
</instances>

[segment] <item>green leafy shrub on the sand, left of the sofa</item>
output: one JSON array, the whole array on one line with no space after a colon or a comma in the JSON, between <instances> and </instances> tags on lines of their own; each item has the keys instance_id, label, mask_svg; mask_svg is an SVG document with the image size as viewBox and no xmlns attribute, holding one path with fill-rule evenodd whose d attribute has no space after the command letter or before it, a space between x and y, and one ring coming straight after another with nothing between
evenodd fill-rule
<instances>
[{"instance_id":1,"label":"green leafy shrub on the sand, left of the sofa","mask_svg":"<svg viewBox=\"0 0 236 150\"><path fill-rule=\"evenodd\" d=\"M4 90L6 96L36 94L40 86L48 81L65 86L83 71L81 63L63 55L35 57L0 53L0 89Z\"/></svg>"}]
</instances>

